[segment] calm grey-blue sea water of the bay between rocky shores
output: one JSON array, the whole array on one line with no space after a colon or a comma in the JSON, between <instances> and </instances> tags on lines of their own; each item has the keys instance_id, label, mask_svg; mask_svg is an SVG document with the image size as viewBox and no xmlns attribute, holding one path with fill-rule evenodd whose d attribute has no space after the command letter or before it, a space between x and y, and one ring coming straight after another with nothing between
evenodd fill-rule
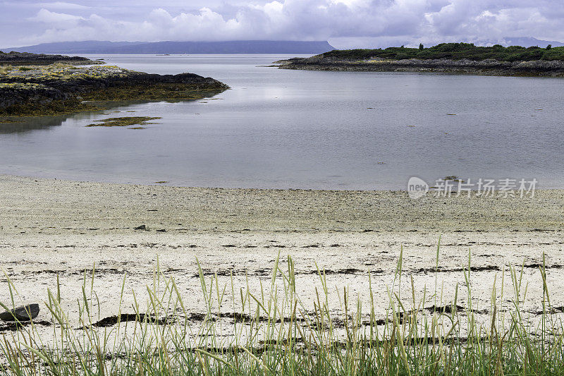
<instances>
[{"instance_id":1,"label":"calm grey-blue sea water of the bay between rocky shores","mask_svg":"<svg viewBox=\"0 0 564 376\"><path fill-rule=\"evenodd\" d=\"M247 188L405 189L462 178L564 188L564 80L288 71L273 55L96 55L227 83L219 100L123 105L145 130L85 128L100 113L0 124L0 172ZM125 112L135 111L135 112ZM454 114L454 115L453 115Z\"/></svg>"}]
</instances>

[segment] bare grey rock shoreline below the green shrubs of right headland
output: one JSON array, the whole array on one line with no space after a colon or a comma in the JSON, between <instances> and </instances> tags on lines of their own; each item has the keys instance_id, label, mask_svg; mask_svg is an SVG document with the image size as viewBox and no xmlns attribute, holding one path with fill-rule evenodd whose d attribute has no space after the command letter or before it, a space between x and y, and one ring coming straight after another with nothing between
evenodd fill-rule
<instances>
[{"instance_id":1,"label":"bare grey rock shoreline below the green shrubs of right headland","mask_svg":"<svg viewBox=\"0 0 564 376\"><path fill-rule=\"evenodd\" d=\"M375 71L415 73L457 73L471 75L508 75L564 77L564 61L498 61L485 59L341 59L338 56L317 55L276 61L281 69L309 71Z\"/></svg>"}]
</instances>

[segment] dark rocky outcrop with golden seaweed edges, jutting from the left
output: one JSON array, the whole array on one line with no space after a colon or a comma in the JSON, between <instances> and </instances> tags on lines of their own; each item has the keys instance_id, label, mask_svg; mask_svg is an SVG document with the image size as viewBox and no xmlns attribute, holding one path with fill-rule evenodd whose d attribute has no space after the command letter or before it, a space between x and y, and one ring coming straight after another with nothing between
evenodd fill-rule
<instances>
[{"instance_id":1,"label":"dark rocky outcrop with golden seaweed edges, jutting from the left","mask_svg":"<svg viewBox=\"0 0 564 376\"><path fill-rule=\"evenodd\" d=\"M2 56L6 55L14 54ZM193 73L158 75L118 66L92 66L93 62L85 58L66 56L71 64L61 62L60 55L24 55L28 59L23 62L0 66L0 117L9 116L0 122L20 116L94 111L101 109L103 102L195 100L228 89L218 80ZM51 56L51 60L44 56ZM38 59L51 63L36 64ZM80 61L85 66L78 66Z\"/></svg>"}]
</instances>

